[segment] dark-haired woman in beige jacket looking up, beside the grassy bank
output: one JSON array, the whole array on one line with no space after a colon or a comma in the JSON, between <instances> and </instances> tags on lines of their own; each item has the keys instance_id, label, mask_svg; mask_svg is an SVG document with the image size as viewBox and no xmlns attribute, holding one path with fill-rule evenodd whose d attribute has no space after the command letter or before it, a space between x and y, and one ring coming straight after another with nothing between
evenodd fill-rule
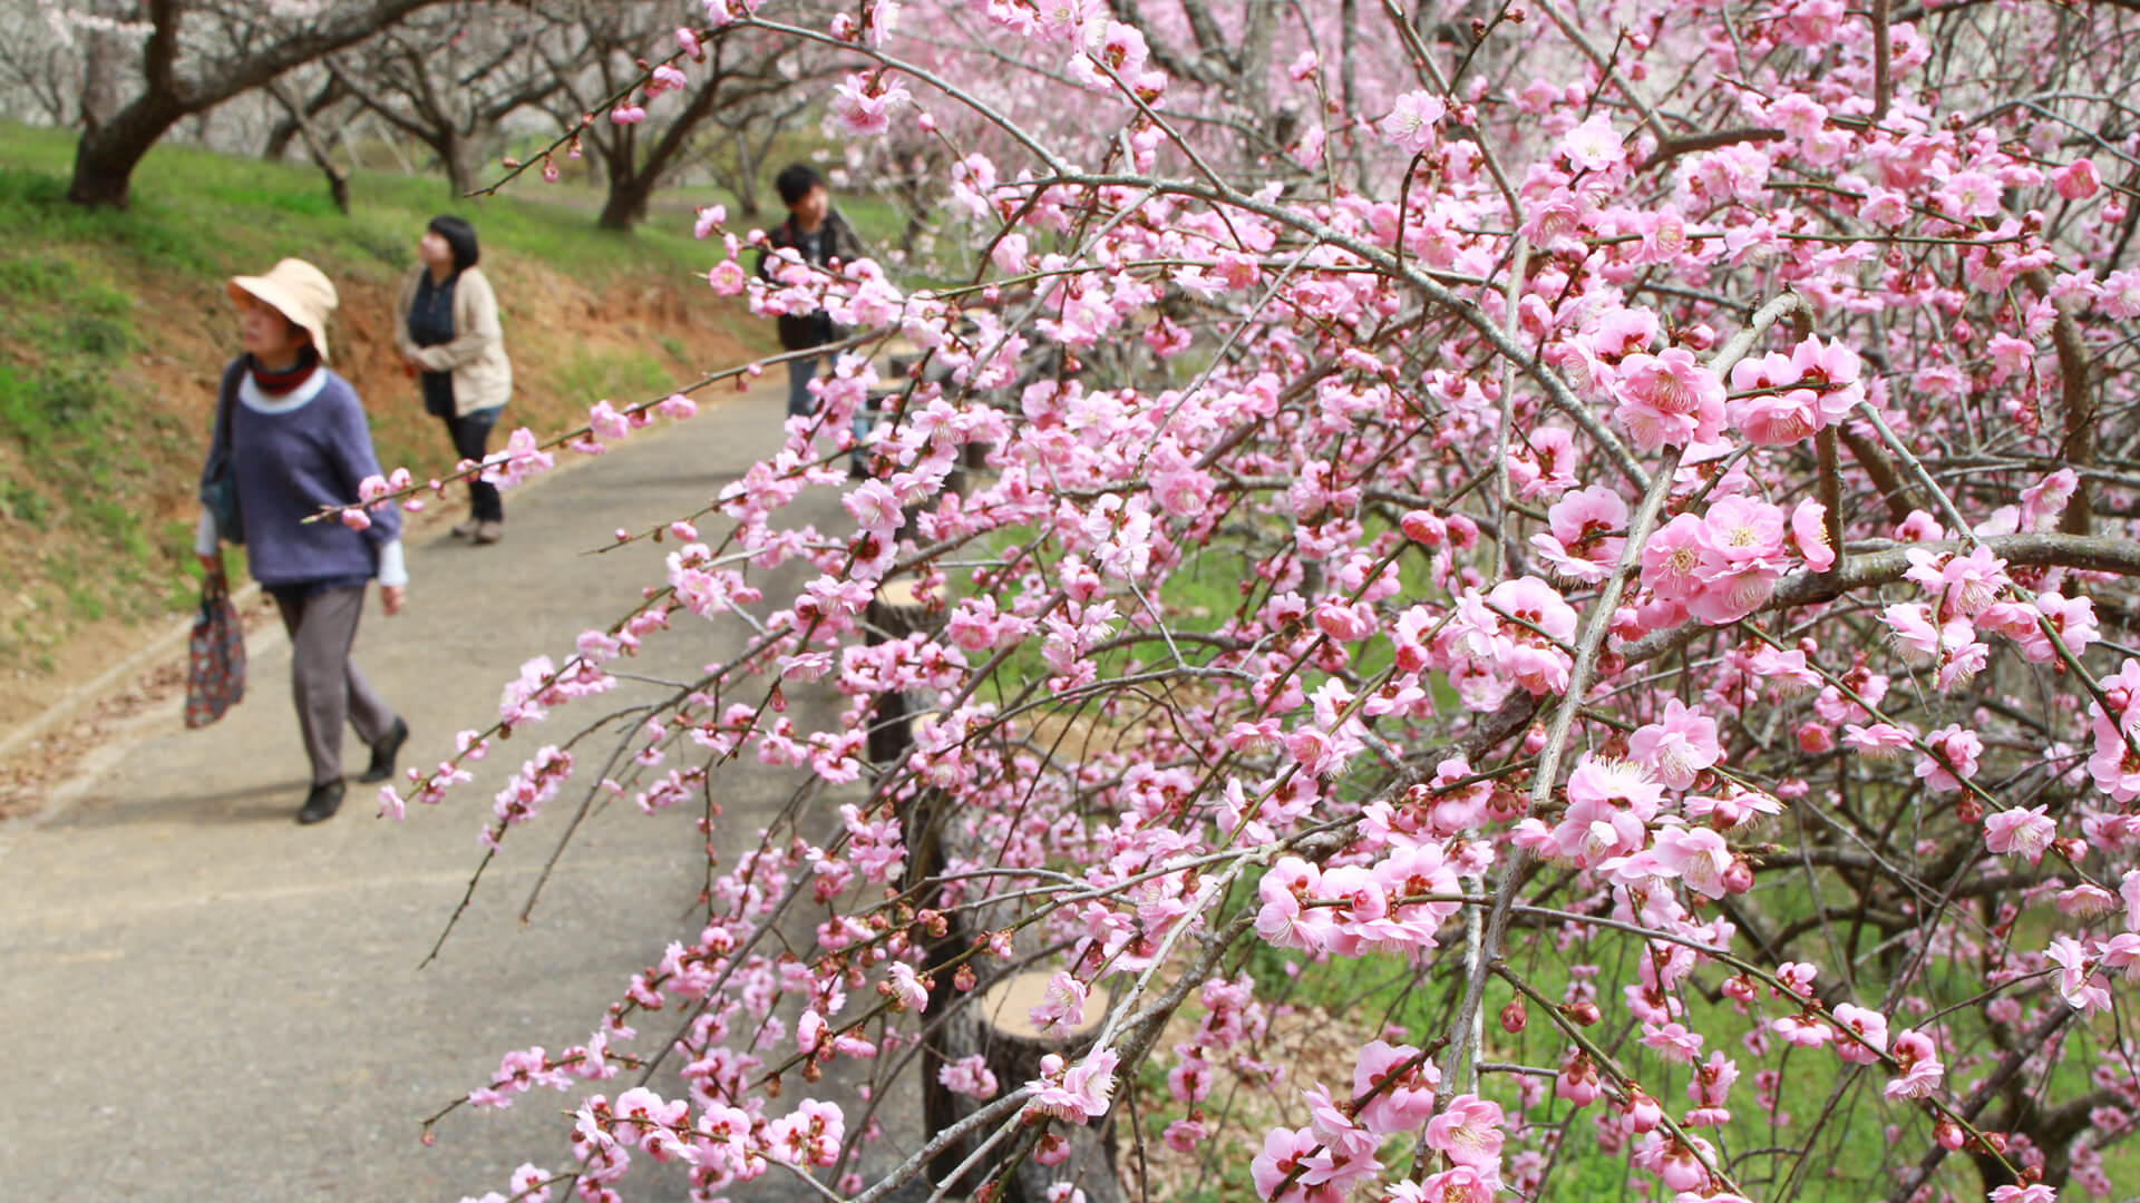
<instances>
[{"instance_id":1,"label":"dark-haired woman in beige jacket looking up, beside the grassy bank","mask_svg":"<svg viewBox=\"0 0 2140 1203\"><path fill-rule=\"evenodd\" d=\"M424 409L445 422L454 454L482 460L490 428L514 392L514 366L499 328L499 295L475 265L475 227L437 216L417 242L422 261L402 280L394 345L424 383ZM469 520L454 535L477 544L505 537L499 488L469 479Z\"/></svg>"}]
</instances>

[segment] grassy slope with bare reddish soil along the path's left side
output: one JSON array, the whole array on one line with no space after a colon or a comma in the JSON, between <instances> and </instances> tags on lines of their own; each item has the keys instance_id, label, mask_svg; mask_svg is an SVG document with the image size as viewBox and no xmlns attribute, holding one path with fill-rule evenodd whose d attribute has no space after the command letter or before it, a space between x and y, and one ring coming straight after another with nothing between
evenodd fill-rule
<instances>
[{"instance_id":1,"label":"grassy slope with bare reddish soil along the path's left side","mask_svg":"<svg viewBox=\"0 0 2140 1203\"><path fill-rule=\"evenodd\" d=\"M336 368L381 460L419 473L449 447L387 330L437 212L475 220L499 280L520 381L507 422L554 430L595 398L657 396L770 347L766 323L698 280L715 248L674 214L627 238L520 199L541 184L477 205L430 178L360 173L342 216L310 167L188 148L143 161L128 212L86 212L64 201L71 163L68 133L0 124L0 730L190 608L193 475L235 351L235 272L300 255L336 278Z\"/></svg>"}]
</instances>

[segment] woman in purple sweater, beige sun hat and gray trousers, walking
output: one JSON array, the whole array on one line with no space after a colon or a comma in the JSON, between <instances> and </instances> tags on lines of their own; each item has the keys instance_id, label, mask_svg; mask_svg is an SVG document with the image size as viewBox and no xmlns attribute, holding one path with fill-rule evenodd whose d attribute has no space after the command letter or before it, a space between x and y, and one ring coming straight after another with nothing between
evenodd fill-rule
<instances>
[{"instance_id":1,"label":"woman in purple sweater, beige sun hat and gray trousers, walking","mask_svg":"<svg viewBox=\"0 0 2140 1203\"><path fill-rule=\"evenodd\" d=\"M387 614L402 608L409 569L402 563L400 512L372 512L353 531L340 522L306 522L323 505L357 499L357 482L379 475L379 456L364 405L349 381L327 368L327 315L338 304L334 283L302 261L282 259L263 276L229 285L246 353L223 370L210 467L229 456L238 516L253 578L282 612L291 642L291 696L312 790L297 822L319 822L342 805L342 724L372 749L360 781L385 781L409 738L404 724L349 659L364 614L364 589L379 580ZM201 567L223 574L223 537L210 507L201 509L195 552Z\"/></svg>"}]
</instances>

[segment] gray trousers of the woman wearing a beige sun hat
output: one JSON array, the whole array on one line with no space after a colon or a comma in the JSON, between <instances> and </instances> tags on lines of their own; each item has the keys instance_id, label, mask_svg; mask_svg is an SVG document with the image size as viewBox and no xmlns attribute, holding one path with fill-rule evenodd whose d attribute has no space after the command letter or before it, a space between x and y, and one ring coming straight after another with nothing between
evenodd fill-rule
<instances>
[{"instance_id":1,"label":"gray trousers of the woman wearing a beige sun hat","mask_svg":"<svg viewBox=\"0 0 2140 1203\"><path fill-rule=\"evenodd\" d=\"M312 783L342 779L342 724L374 745L394 730L394 706L372 689L349 659L364 616L364 587L323 589L304 597L276 589L274 604L289 631L289 691L304 730L304 753L312 758Z\"/></svg>"}]
</instances>

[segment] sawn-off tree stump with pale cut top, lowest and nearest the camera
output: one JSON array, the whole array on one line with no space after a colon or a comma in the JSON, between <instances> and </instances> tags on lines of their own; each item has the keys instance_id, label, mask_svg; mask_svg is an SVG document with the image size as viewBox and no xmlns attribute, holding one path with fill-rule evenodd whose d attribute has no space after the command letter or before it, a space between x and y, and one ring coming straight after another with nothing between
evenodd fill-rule
<instances>
[{"instance_id":1,"label":"sawn-off tree stump with pale cut top, lowest and nearest the camera","mask_svg":"<svg viewBox=\"0 0 2140 1203\"><path fill-rule=\"evenodd\" d=\"M1046 998L1049 978L1044 972L1019 972L993 983L944 1025L944 1057L959 1062L980 1055L989 1072L995 1075L997 1090L1010 1092L1040 1077L1040 1060L1049 1053L1076 1064L1100 1034L1106 1021L1106 989L1094 989L1085 1000L1085 1015L1068 1032L1038 1032L1029 1017L1031 1008ZM1117 1081L1115 1090L1128 1090ZM946 1092L948 1094L948 1092ZM978 1102L965 1096L954 1100L952 1120L976 1111ZM937 1128L931 1128L937 1130ZM1061 1164L1040 1164L1029 1154L1004 1175L999 1203L1049 1203L1049 1186L1068 1182L1085 1192L1087 1203L1124 1203L1121 1182L1115 1175L1115 1120L1094 1120L1089 1124L1051 1122L1049 1130L1070 1143L1070 1156ZM929 1175L944 1182L989 1132L976 1132L954 1145L929 1167ZM984 1182L995 1179L1021 1141L1002 1143L1002 1156L991 1156L967 1177L952 1184L954 1194L972 1194ZM950 1156L957 1154L957 1156Z\"/></svg>"}]
</instances>

